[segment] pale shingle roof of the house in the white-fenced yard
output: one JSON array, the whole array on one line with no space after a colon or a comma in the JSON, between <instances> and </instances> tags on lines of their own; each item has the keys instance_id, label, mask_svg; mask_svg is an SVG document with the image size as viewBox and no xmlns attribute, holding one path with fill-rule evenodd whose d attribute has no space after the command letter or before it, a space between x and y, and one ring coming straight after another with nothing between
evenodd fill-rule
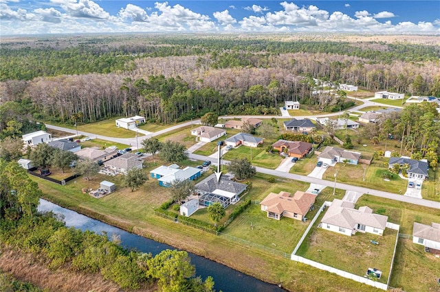
<instances>
[{"instance_id":1,"label":"pale shingle roof of the house in the white-fenced yard","mask_svg":"<svg viewBox=\"0 0 440 292\"><path fill-rule=\"evenodd\" d=\"M355 228L356 224L359 223L384 230L388 216L373 214L372 212L369 207L360 207L359 210L356 210L353 203L334 199L321 222L349 229Z\"/></svg>"}]
</instances>

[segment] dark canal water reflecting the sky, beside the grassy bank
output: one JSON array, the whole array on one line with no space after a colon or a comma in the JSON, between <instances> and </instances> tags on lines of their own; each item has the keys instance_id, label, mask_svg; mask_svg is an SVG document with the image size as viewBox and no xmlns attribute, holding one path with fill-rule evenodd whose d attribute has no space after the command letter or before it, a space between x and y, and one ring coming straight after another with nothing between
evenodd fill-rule
<instances>
[{"instance_id":1,"label":"dark canal water reflecting the sky, beside the grassy bank","mask_svg":"<svg viewBox=\"0 0 440 292\"><path fill-rule=\"evenodd\" d=\"M52 211L56 214L61 214L64 216L66 226L79 228L80 230L90 230L101 234L102 231L107 232L107 236L111 237L112 234L117 234L120 236L122 241L122 246L126 248L133 248L140 252L150 252L155 256L162 252L162 250L172 249L170 245L164 243L158 243L151 239L146 239L142 236L131 234L120 228L110 226L109 224L102 223L101 221L91 219L85 215L81 215L78 212L63 208L56 204L46 201L45 199L40 199L39 211ZM188 253L191 258L192 265L195 265L197 276L201 276L204 280L208 276L214 278L215 287L217 291L223 292L233 292L233 291L264 291L272 292L284 291L278 288L276 285L267 284L256 278L245 275L239 271L215 263L212 260L197 256L195 254Z\"/></svg>"}]
</instances>

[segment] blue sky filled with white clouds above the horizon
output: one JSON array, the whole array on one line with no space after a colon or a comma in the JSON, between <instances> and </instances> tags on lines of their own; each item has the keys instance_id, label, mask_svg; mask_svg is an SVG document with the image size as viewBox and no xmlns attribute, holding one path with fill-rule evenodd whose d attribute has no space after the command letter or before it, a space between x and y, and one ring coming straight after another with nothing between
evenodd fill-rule
<instances>
[{"instance_id":1,"label":"blue sky filled with white clouds above the horizon","mask_svg":"<svg viewBox=\"0 0 440 292\"><path fill-rule=\"evenodd\" d=\"M440 1L0 0L0 36L118 32L440 34Z\"/></svg>"}]
</instances>

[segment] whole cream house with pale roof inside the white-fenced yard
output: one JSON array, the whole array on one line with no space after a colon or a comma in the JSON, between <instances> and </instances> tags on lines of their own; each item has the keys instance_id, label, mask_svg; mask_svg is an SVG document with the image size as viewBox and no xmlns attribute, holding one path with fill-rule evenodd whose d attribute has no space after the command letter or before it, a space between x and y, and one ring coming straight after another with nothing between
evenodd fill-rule
<instances>
[{"instance_id":1,"label":"whole cream house with pale roof inside the white-fenced yard","mask_svg":"<svg viewBox=\"0 0 440 292\"><path fill-rule=\"evenodd\" d=\"M384 234L388 216L373 214L373 210L367 206L359 210L354 207L351 202L334 199L322 217L321 228L348 236L356 232Z\"/></svg>"}]
</instances>

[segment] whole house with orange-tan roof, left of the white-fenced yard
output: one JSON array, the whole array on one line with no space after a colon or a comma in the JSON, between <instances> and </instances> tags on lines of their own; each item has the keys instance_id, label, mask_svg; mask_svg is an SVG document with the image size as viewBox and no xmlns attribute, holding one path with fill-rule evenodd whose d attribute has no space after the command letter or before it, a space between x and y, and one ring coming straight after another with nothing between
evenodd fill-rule
<instances>
[{"instance_id":1,"label":"whole house with orange-tan roof, left of the white-fenced yard","mask_svg":"<svg viewBox=\"0 0 440 292\"><path fill-rule=\"evenodd\" d=\"M316 195L296 191L293 197L291 193L281 191L279 194L270 193L260 203L261 210L267 212L267 218L280 220L288 217L303 220L311 206L315 203Z\"/></svg>"}]
</instances>

